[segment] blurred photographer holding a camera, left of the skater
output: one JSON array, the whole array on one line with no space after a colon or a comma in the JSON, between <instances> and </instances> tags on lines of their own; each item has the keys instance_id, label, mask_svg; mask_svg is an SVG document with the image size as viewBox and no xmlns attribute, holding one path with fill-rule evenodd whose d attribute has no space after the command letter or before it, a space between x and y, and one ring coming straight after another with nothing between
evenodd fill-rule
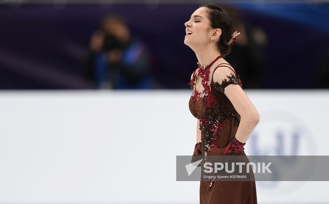
<instances>
[{"instance_id":1,"label":"blurred photographer holding a camera, left of the skater","mask_svg":"<svg viewBox=\"0 0 329 204\"><path fill-rule=\"evenodd\" d=\"M122 17L107 15L92 33L84 77L96 89L151 89L149 51Z\"/></svg>"}]
</instances>

